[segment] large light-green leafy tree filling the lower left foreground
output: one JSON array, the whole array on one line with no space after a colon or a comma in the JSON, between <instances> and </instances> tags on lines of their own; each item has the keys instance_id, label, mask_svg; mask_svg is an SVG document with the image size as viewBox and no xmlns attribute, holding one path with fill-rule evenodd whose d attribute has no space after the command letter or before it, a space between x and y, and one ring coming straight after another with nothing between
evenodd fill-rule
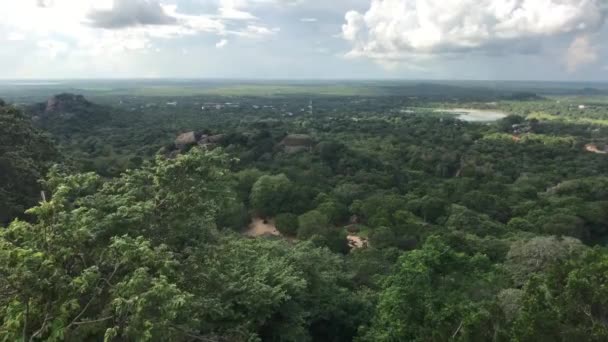
<instances>
[{"instance_id":1,"label":"large light-green leafy tree filling the lower left foreground","mask_svg":"<svg viewBox=\"0 0 608 342\"><path fill-rule=\"evenodd\" d=\"M50 340L192 331L192 295L171 250L213 236L223 160L195 150L107 182L54 170L52 199L30 210L37 221L15 221L0 236L0 273L10 275L0 330Z\"/></svg>"}]
</instances>

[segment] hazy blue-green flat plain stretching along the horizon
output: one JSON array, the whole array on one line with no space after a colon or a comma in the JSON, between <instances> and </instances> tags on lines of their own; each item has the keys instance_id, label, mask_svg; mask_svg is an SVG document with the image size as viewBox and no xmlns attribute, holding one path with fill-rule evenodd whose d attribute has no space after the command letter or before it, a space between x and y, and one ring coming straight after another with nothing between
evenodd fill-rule
<instances>
[{"instance_id":1,"label":"hazy blue-green flat plain stretching along the horizon","mask_svg":"<svg viewBox=\"0 0 608 342\"><path fill-rule=\"evenodd\" d=\"M485 98L522 92L568 102L608 103L608 84L485 81L256 81L256 80L36 80L0 81L0 95L11 100L42 99L59 92L88 97L143 96L406 96Z\"/></svg>"}]
</instances>

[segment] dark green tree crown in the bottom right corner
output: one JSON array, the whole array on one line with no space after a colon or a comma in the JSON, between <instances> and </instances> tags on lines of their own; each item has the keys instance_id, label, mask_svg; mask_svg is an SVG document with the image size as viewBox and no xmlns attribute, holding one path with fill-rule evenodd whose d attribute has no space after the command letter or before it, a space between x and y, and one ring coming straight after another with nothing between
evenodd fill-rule
<instances>
[{"instance_id":1,"label":"dark green tree crown in the bottom right corner","mask_svg":"<svg viewBox=\"0 0 608 342\"><path fill-rule=\"evenodd\" d=\"M606 250L594 249L560 263L525 287L513 325L520 341L604 341L608 338Z\"/></svg>"}]
</instances>

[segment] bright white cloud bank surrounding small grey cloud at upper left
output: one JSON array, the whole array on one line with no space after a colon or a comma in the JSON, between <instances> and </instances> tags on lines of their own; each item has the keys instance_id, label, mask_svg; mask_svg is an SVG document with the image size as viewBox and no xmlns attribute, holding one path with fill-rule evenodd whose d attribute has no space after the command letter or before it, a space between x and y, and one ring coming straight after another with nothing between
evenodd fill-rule
<instances>
[{"instance_id":1,"label":"bright white cloud bank surrounding small grey cloud at upper left","mask_svg":"<svg viewBox=\"0 0 608 342\"><path fill-rule=\"evenodd\" d=\"M279 29L243 10L263 2L218 0L217 13L194 15L159 0L0 0L0 39L27 37L57 57L152 51L155 40L203 34L264 38Z\"/></svg>"}]
</instances>

